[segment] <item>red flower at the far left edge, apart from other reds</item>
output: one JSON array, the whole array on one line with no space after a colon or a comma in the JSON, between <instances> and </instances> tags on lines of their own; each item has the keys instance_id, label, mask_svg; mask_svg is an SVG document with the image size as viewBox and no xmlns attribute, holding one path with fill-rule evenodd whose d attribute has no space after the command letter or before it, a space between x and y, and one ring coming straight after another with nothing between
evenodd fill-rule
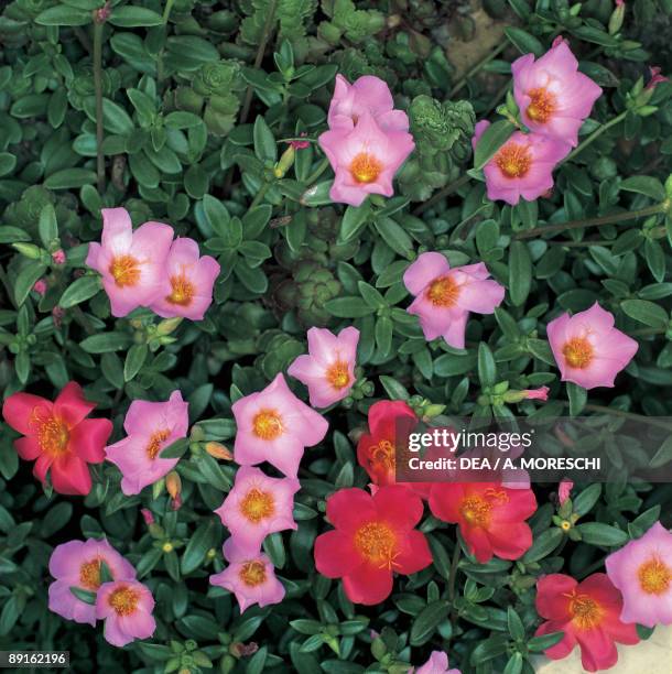
<instances>
[{"instance_id":1,"label":"red flower at the far left edge, apart from other reds","mask_svg":"<svg viewBox=\"0 0 672 674\"><path fill-rule=\"evenodd\" d=\"M95 407L74 381L54 402L31 393L14 393L4 401L4 421L25 436L14 441L19 456L36 459L33 475L42 482L51 469L52 485L58 493L87 494L91 490L87 464L105 460L112 423L85 418Z\"/></svg>"}]
</instances>

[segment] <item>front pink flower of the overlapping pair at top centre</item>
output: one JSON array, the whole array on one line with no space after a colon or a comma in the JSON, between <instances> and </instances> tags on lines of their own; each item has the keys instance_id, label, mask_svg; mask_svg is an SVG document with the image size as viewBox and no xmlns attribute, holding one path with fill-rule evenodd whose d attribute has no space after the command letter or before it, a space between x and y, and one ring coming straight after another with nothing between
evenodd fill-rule
<instances>
[{"instance_id":1,"label":"front pink flower of the overlapping pair at top centre","mask_svg":"<svg viewBox=\"0 0 672 674\"><path fill-rule=\"evenodd\" d=\"M329 197L351 206L369 194L392 196L392 178L415 148L410 133L383 131L369 112L353 130L325 131L317 140L336 174Z\"/></svg>"}]
</instances>

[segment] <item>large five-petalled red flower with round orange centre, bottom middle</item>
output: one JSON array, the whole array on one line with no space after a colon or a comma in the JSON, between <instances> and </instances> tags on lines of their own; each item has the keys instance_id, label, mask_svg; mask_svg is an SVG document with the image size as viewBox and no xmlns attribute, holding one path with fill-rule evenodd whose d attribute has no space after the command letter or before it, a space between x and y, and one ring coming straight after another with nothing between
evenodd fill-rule
<instances>
[{"instance_id":1,"label":"large five-petalled red flower with round orange centre, bottom middle","mask_svg":"<svg viewBox=\"0 0 672 674\"><path fill-rule=\"evenodd\" d=\"M356 604L380 604L392 591L392 572L414 574L432 563L424 534L413 528L422 501L401 486L381 487L375 496L342 489L327 499L327 518L336 528L315 541L315 566L327 578L343 578Z\"/></svg>"}]
</instances>

